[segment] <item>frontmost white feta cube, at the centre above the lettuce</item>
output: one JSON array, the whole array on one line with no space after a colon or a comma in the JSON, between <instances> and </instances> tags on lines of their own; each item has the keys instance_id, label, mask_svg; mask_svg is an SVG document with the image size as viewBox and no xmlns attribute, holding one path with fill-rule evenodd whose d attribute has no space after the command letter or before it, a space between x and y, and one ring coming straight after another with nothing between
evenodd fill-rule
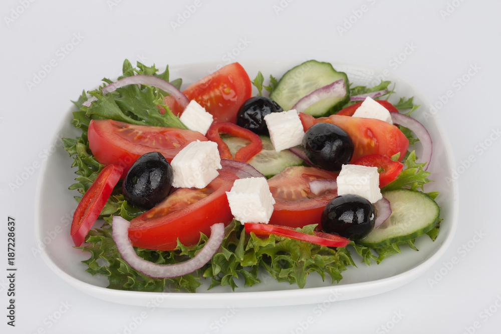
<instances>
[{"instance_id":1,"label":"frontmost white feta cube, at the centre above the lettuce","mask_svg":"<svg viewBox=\"0 0 501 334\"><path fill-rule=\"evenodd\" d=\"M231 214L243 223L266 223L273 213L275 199L264 177L237 179L226 191Z\"/></svg>"}]
</instances>

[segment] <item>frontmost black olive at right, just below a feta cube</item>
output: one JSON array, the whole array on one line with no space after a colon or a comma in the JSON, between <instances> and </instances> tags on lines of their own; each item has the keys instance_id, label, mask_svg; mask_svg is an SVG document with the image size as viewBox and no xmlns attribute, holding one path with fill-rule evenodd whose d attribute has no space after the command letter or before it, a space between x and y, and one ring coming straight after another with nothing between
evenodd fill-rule
<instances>
[{"instance_id":1,"label":"frontmost black olive at right, just below a feta cube","mask_svg":"<svg viewBox=\"0 0 501 334\"><path fill-rule=\"evenodd\" d=\"M359 195L337 196L329 201L320 217L326 233L339 234L350 240L360 240L374 228L374 205Z\"/></svg>"}]
</instances>

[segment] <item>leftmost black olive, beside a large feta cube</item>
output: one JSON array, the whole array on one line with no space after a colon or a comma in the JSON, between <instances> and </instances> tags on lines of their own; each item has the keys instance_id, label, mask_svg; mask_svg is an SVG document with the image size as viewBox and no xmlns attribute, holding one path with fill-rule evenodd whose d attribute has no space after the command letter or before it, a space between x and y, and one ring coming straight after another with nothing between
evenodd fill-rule
<instances>
[{"instance_id":1,"label":"leftmost black olive, beside a large feta cube","mask_svg":"<svg viewBox=\"0 0 501 334\"><path fill-rule=\"evenodd\" d=\"M159 152L143 154L125 176L122 190L131 204L151 209L170 193L172 167Z\"/></svg>"}]
</instances>

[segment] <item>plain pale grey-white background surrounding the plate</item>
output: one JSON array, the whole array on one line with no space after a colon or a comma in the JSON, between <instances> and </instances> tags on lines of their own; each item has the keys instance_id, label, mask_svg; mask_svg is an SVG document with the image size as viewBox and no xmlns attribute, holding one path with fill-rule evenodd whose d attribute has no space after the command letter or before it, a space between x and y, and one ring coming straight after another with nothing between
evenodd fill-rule
<instances>
[{"instance_id":1,"label":"plain pale grey-white background surrounding the plate","mask_svg":"<svg viewBox=\"0 0 501 334\"><path fill-rule=\"evenodd\" d=\"M189 17L186 12L188 18L181 21L190 8L196 11ZM234 315L227 309L156 309L133 332L498 332L500 11L496 1L459 0L3 1L0 253L7 257L7 217L13 216L19 271L15 328L6 324L7 279L0 277L0 331L123 333L140 315L141 307L105 302L74 289L34 256L30 249L36 247L39 169L19 188L10 185L42 162L41 152L53 143L70 100L101 78L118 76L125 58L157 67L225 63L225 55L244 40L248 45L235 61L313 58L388 69L439 106L437 115L461 172L453 242L431 269L409 284L332 303L307 329L301 325L306 326L315 305L239 308ZM178 20L181 24L173 27ZM64 54L61 48L68 44L72 50ZM29 87L27 82L51 60L57 66ZM464 85L457 81L462 77L467 79ZM480 143L490 146L478 150ZM465 164L471 156L472 162ZM475 237L478 233L482 238ZM450 267L454 257L458 261ZM440 270L446 274L438 277ZM434 277L441 279L430 284ZM57 322L48 321L64 309L62 303L70 305L68 310ZM232 316L225 321L227 314ZM226 323L218 326L216 320Z\"/></svg>"}]
</instances>

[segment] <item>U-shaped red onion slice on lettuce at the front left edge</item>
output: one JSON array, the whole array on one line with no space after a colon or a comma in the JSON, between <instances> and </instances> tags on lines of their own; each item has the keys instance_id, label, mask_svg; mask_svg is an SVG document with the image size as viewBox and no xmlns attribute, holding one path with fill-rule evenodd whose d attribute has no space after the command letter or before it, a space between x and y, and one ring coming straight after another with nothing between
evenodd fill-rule
<instances>
[{"instance_id":1,"label":"U-shaped red onion slice on lettuce at the front left edge","mask_svg":"<svg viewBox=\"0 0 501 334\"><path fill-rule=\"evenodd\" d=\"M210 226L210 237L195 257L175 264L157 264L139 257L129 240L130 222L120 216L113 217L113 241L125 262L150 277L169 278L189 274L210 261L224 239L224 224Z\"/></svg>"}]
</instances>

